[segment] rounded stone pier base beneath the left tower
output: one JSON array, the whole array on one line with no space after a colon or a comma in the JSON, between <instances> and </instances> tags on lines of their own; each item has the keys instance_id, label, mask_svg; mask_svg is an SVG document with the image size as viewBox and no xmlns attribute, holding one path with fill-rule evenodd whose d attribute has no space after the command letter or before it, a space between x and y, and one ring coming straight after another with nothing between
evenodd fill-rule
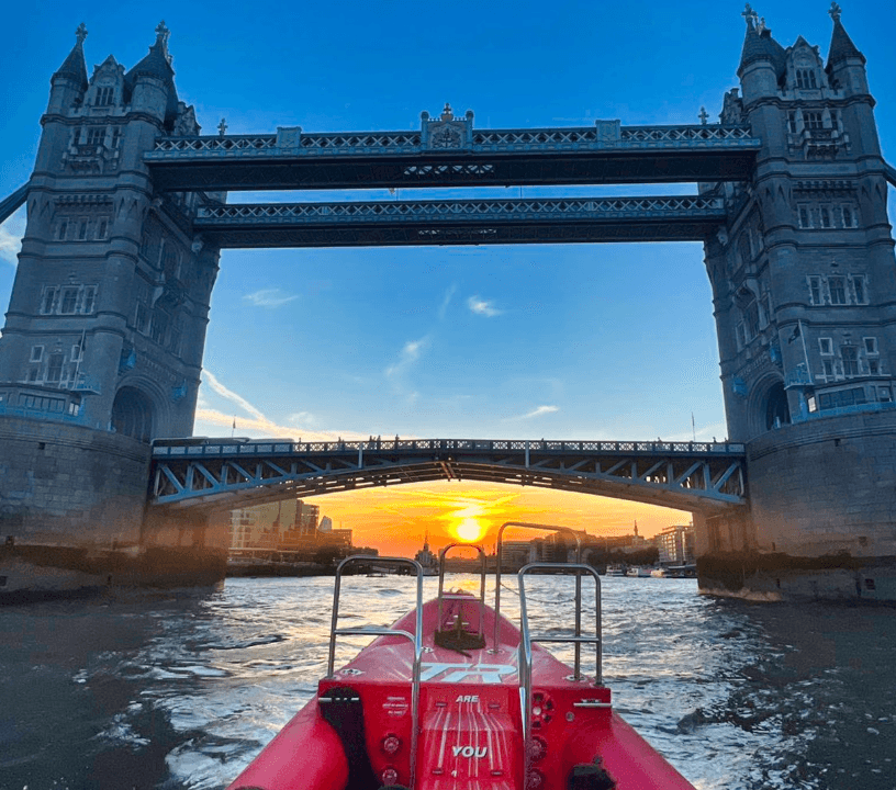
<instances>
[{"instance_id":1,"label":"rounded stone pier base beneath the left tower","mask_svg":"<svg viewBox=\"0 0 896 790\"><path fill-rule=\"evenodd\" d=\"M147 512L149 460L128 437L0 416L0 602L223 579L222 524Z\"/></svg>"}]
</instances>

